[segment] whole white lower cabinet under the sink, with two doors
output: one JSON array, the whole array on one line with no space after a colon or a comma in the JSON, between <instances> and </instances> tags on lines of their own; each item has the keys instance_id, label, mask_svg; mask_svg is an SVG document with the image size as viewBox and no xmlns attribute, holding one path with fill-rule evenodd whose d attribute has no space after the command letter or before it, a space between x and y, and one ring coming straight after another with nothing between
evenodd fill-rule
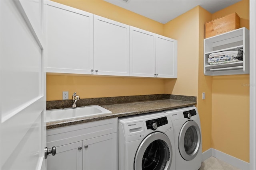
<instances>
[{"instance_id":1,"label":"whole white lower cabinet under the sink, with two doors","mask_svg":"<svg viewBox=\"0 0 256 170\"><path fill-rule=\"evenodd\" d=\"M47 170L116 170L117 118L47 130Z\"/></svg>"}]
</instances>

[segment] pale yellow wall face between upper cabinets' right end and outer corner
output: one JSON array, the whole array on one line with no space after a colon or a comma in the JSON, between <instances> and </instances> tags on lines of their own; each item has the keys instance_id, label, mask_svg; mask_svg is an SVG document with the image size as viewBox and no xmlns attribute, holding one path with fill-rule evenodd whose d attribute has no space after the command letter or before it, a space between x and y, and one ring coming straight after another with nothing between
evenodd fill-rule
<instances>
[{"instance_id":1,"label":"pale yellow wall face between upper cabinets' right end and outer corner","mask_svg":"<svg viewBox=\"0 0 256 170\"><path fill-rule=\"evenodd\" d=\"M165 92L198 95L198 7L164 25L164 35L178 41L178 78L166 79Z\"/></svg>"}]
</instances>

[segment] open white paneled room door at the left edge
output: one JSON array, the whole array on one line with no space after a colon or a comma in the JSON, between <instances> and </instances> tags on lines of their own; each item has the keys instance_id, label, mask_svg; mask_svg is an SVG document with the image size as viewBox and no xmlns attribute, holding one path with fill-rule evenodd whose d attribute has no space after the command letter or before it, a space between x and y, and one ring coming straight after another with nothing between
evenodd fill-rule
<instances>
[{"instance_id":1,"label":"open white paneled room door at the left edge","mask_svg":"<svg viewBox=\"0 0 256 170\"><path fill-rule=\"evenodd\" d=\"M0 1L0 169L46 169L43 1Z\"/></svg>"}]
</instances>

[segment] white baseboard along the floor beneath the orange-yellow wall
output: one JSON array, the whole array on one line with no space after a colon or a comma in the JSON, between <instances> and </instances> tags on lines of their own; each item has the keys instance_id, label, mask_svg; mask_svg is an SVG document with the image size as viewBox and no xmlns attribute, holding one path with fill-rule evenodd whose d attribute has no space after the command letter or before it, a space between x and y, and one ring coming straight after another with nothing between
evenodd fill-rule
<instances>
[{"instance_id":1,"label":"white baseboard along the floor beneath the orange-yellow wall","mask_svg":"<svg viewBox=\"0 0 256 170\"><path fill-rule=\"evenodd\" d=\"M241 170L250 169L250 163L240 160L238 158L235 158L234 156L225 154L224 152L220 152L219 150L216 150L213 148L210 148L202 153L202 161L210 158L211 156L214 156L219 160L227 162L228 164L235 166L236 168L239 168Z\"/></svg>"}]
</instances>

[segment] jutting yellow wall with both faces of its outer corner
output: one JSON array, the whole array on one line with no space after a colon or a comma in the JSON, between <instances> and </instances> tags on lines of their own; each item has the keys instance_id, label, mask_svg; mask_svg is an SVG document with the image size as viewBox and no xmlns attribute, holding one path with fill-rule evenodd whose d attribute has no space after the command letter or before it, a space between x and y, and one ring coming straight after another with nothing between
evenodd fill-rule
<instances>
[{"instance_id":1,"label":"jutting yellow wall with both faces of its outer corner","mask_svg":"<svg viewBox=\"0 0 256 170\"><path fill-rule=\"evenodd\" d=\"M212 14L197 6L164 25L164 35L178 40L178 78L164 80L165 93L197 97L203 152L212 147L212 76L203 72L204 23L210 20Z\"/></svg>"}]
</instances>

